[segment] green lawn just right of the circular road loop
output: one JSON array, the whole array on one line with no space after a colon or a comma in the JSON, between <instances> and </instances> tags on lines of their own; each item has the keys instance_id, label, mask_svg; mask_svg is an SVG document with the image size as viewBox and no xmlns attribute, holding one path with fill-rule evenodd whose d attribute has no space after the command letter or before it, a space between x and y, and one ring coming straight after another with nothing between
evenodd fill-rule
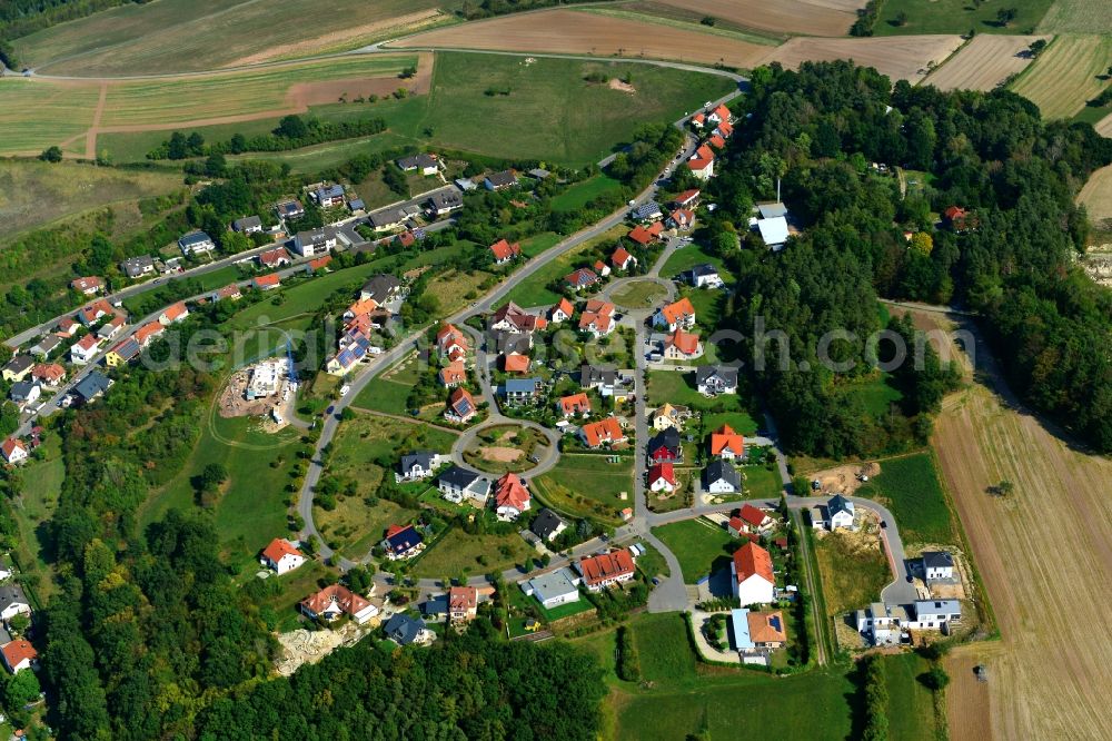
<instances>
[{"instance_id":1,"label":"green lawn just right of the circular road loop","mask_svg":"<svg viewBox=\"0 0 1112 741\"><path fill-rule=\"evenodd\" d=\"M555 468L533 481L537 495L560 512L620 522L618 512L633 506L633 458L608 463L605 455L565 453ZM626 492L628 498L618 495Z\"/></svg>"}]
</instances>

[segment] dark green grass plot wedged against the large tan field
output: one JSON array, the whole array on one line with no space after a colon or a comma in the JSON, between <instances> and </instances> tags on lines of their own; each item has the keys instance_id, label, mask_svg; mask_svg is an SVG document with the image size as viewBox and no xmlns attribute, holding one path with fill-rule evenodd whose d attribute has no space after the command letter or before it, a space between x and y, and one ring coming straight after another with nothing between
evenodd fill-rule
<instances>
[{"instance_id":1,"label":"dark green grass plot wedged against the large tan field","mask_svg":"<svg viewBox=\"0 0 1112 741\"><path fill-rule=\"evenodd\" d=\"M960 545L930 453L881 462L881 473L857 490L892 510L904 543Z\"/></svg>"}]
</instances>

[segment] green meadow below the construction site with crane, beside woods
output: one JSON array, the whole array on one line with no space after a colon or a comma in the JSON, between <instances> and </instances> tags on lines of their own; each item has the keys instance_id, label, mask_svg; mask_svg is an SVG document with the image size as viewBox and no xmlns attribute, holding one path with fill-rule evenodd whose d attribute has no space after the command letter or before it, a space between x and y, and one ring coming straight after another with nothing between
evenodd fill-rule
<instances>
[{"instance_id":1,"label":"green meadow below the construction site with crane, beside woods","mask_svg":"<svg viewBox=\"0 0 1112 741\"><path fill-rule=\"evenodd\" d=\"M286 491L296 460L299 433L290 427L270 435L257 419L226 419L215 412L201 422L202 432L192 456L139 511L142 525L160 520L168 510L197 506L192 477L210 463L222 464L230 477L216 506L214 523L222 555L238 572L254 571L256 555L271 539L289 534Z\"/></svg>"}]
</instances>

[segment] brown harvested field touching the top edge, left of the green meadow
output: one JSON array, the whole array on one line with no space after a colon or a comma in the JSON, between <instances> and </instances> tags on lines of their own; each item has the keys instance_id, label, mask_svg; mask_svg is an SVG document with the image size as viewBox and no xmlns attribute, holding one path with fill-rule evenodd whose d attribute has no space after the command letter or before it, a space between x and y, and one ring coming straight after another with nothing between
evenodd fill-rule
<instances>
[{"instance_id":1,"label":"brown harvested field touching the top edge, left of the green meadow","mask_svg":"<svg viewBox=\"0 0 1112 741\"><path fill-rule=\"evenodd\" d=\"M845 36L857 19L856 0L663 0L699 16L774 33Z\"/></svg>"}]
</instances>

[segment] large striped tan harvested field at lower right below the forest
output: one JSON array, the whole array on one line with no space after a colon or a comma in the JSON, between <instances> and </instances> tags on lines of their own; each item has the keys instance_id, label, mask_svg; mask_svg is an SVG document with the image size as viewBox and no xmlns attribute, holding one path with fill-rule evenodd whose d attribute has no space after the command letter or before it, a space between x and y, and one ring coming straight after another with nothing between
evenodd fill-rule
<instances>
[{"instance_id":1,"label":"large striped tan harvested field at lower right below the forest","mask_svg":"<svg viewBox=\"0 0 1112 741\"><path fill-rule=\"evenodd\" d=\"M1095 636L1112 631L1112 616L1091 595L1112 583L1112 462L1072 449L1029 414L976 349L980 377L946 399L932 443L1001 641L949 662L951 738L1106 739L1112 643ZM1001 481L1014 491L990 495ZM976 662L989 671L983 688ZM975 708L974 692L985 694ZM977 713L984 720L971 722Z\"/></svg>"}]
</instances>

